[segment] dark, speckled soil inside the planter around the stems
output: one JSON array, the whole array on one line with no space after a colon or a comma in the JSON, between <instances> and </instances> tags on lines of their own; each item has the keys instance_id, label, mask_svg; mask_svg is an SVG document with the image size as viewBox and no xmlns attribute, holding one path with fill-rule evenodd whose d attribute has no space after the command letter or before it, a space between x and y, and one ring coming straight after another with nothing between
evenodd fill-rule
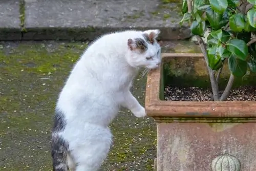
<instances>
[{"instance_id":1,"label":"dark, speckled soil inside the planter around the stems","mask_svg":"<svg viewBox=\"0 0 256 171\"><path fill-rule=\"evenodd\" d=\"M220 92L221 94L223 91ZM165 87L164 99L170 101L209 101L211 91L198 87ZM256 100L256 87L243 86L231 90L227 101L254 101Z\"/></svg>"}]
</instances>

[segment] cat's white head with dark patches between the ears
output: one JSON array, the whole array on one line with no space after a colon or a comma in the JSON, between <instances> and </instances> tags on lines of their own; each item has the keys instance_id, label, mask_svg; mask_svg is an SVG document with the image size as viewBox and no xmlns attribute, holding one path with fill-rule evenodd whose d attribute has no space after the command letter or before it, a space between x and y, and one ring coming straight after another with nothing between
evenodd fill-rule
<instances>
[{"instance_id":1,"label":"cat's white head with dark patches between the ears","mask_svg":"<svg viewBox=\"0 0 256 171\"><path fill-rule=\"evenodd\" d=\"M155 69L161 63L161 47L157 42L160 30L146 30L136 38L129 38L129 63L132 67Z\"/></svg>"}]
</instances>

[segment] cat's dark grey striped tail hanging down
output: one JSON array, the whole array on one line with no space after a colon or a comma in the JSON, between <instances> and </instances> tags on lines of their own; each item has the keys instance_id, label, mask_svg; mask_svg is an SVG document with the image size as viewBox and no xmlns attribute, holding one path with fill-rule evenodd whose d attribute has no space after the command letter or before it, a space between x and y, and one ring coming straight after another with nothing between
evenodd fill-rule
<instances>
[{"instance_id":1,"label":"cat's dark grey striped tail hanging down","mask_svg":"<svg viewBox=\"0 0 256 171\"><path fill-rule=\"evenodd\" d=\"M59 135L52 136L52 161L53 171L68 171L67 155L68 155L68 142L66 142Z\"/></svg>"}]
</instances>

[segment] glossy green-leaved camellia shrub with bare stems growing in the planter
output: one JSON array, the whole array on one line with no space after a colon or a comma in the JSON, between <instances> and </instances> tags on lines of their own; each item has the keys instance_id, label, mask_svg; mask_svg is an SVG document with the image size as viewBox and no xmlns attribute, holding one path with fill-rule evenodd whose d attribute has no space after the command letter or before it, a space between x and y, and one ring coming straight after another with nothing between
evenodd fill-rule
<instances>
[{"instance_id":1,"label":"glossy green-leaved camellia shrub with bare stems growing in the planter","mask_svg":"<svg viewBox=\"0 0 256 171\"><path fill-rule=\"evenodd\" d=\"M183 0L183 18L201 47L212 100L227 99L235 77L256 72L256 0ZM222 95L219 78L224 62L230 77Z\"/></svg>"}]
</instances>

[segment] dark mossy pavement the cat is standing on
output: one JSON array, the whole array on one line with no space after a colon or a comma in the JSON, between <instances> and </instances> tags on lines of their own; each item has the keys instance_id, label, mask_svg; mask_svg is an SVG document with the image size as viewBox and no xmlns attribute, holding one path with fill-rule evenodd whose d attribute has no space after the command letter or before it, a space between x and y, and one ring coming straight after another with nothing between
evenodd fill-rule
<instances>
[{"instance_id":1,"label":"dark mossy pavement the cat is standing on","mask_svg":"<svg viewBox=\"0 0 256 171\"><path fill-rule=\"evenodd\" d=\"M55 102L74 62L87 45L87 42L0 42L1 171L52 170L49 149ZM163 52L177 52L178 46L184 47L174 42L169 45ZM138 77L133 86L133 93L142 105L145 79ZM102 170L153 170L156 123L152 118L136 118L123 109L111 124L111 130L114 143Z\"/></svg>"}]
</instances>

